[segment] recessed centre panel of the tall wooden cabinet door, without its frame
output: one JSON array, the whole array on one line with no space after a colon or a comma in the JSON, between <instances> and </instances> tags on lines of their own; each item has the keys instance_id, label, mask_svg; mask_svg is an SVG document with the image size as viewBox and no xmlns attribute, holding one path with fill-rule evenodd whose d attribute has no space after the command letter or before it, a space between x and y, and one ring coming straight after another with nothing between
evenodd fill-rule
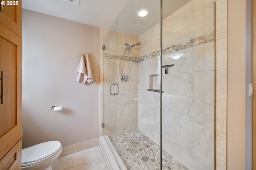
<instances>
[{"instance_id":1,"label":"recessed centre panel of the tall wooden cabinet door, without its frame","mask_svg":"<svg viewBox=\"0 0 256 170\"><path fill-rule=\"evenodd\" d=\"M4 71L4 104L0 104L0 136L16 126L17 46L0 37L0 71ZM3 81L3 80L2 80ZM3 92L2 92L3 93Z\"/></svg>"}]
</instances>

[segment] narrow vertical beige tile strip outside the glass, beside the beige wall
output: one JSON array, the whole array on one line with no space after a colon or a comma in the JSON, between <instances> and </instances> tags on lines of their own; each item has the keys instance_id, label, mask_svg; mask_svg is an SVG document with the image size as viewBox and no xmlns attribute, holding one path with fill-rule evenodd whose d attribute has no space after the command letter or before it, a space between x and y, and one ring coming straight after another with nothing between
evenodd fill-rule
<instances>
[{"instance_id":1,"label":"narrow vertical beige tile strip outside the glass, beside the beige wall","mask_svg":"<svg viewBox=\"0 0 256 170\"><path fill-rule=\"evenodd\" d=\"M227 9L216 0L216 168L226 170L227 142Z\"/></svg>"}]
</instances>

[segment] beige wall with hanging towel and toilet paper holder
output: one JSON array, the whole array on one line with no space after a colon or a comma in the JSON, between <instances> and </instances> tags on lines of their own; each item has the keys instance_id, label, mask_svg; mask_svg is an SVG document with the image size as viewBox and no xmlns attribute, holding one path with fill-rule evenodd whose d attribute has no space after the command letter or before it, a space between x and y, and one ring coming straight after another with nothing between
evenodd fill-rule
<instances>
[{"instance_id":1,"label":"beige wall with hanging towel and toilet paper holder","mask_svg":"<svg viewBox=\"0 0 256 170\"><path fill-rule=\"evenodd\" d=\"M22 10L23 148L49 140L62 146L98 137L99 28ZM94 81L76 82L81 54ZM53 112L53 106L63 111Z\"/></svg>"}]
</instances>

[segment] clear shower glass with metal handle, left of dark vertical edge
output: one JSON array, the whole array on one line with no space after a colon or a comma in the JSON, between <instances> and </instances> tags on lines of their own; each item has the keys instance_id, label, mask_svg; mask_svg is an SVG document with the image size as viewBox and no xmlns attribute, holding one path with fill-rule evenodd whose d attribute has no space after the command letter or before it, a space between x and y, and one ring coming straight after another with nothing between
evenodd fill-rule
<instances>
[{"instance_id":1,"label":"clear shower glass with metal handle, left of dark vertical edge","mask_svg":"<svg viewBox=\"0 0 256 170\"><path fill-rule=\"evenodd\" d=\"M104 37L104 135L122 170L160 169L160 19L160 1L129 0Z\"/></svg>"}]
</instances>

